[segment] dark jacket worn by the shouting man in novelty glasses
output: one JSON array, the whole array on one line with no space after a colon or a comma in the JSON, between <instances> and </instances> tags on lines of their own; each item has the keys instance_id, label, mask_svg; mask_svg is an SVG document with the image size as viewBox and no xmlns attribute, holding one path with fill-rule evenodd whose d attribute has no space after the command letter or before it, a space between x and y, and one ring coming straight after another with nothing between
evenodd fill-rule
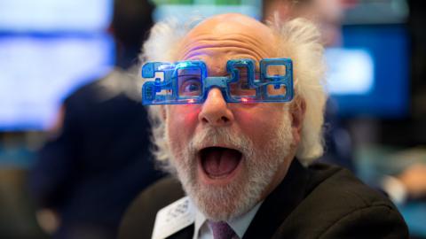
<instances>
[{"instance_id":1,"label":"dark jacket worn by the shouting man in novelty glasses","mask_svg":"<svg viewBox=\"0 0 426 239\"><path fill-rule=\"evenodd\" d=\"M146 189L122 220L119 238L151 238L155 214L184 192L173 179ZM193 225L169 238L193 236ZM396 207L348 170L295 159L280 185L266 197L242 239L408 238Z\"/></svg>"}]
</instances>

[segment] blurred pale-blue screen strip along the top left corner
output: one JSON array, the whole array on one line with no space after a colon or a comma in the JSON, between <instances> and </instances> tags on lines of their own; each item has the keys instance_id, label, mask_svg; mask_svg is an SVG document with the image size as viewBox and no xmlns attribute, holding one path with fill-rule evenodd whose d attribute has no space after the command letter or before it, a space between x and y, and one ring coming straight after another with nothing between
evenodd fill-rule
<instances>
[{"instance_id":1,"label":"blurred pale-blue screen strip along the top left corner","mask_svg":"<svg viewBox=\"0 0 426 239\"><path fill-rule=\"evenodd\" d=\"M99 31L112 12L113 0L0 0L0 31Z\"/></svg>"}]
</instances>

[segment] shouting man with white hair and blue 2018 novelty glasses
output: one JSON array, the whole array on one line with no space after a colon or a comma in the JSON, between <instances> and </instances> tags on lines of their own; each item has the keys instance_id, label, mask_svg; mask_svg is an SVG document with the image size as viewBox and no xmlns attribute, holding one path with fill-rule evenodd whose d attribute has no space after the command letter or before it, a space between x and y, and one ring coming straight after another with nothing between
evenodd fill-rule
<instances>
[{"instance_id":1,"label":"shouting man with white hair and blue 2018 novelty glasses","mask_svg":"<svg viewBox=\"0 0 426 239\"><path fill-rule=\"evenodd\" d=\"M165 104L150 107L156 157L178 182L143 192L119 238L407 238L389 200L342 168L308 166L326 102L311 23L225 14L193 25L157 24L145 43L157 63L142 68L153 78L144 103Z\"/></svg>"}]
</instances>

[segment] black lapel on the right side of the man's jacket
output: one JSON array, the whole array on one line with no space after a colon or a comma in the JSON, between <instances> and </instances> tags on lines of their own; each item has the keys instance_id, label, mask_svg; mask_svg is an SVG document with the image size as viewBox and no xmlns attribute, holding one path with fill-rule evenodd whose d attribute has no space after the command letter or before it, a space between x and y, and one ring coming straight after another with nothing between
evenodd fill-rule
<instances>
[{"instance_id":1,"label":"black lapel on the right side of the man's jacket","mask_svg":"<svg viewBox=\"0 0 426 239\"><path fill-rule=\"evenodd\" d=\"M288 214L304 199L308 181L308 169L295 158L284 180L264 200L243 239L272 238Z\"/></svg>"}]
</instances>

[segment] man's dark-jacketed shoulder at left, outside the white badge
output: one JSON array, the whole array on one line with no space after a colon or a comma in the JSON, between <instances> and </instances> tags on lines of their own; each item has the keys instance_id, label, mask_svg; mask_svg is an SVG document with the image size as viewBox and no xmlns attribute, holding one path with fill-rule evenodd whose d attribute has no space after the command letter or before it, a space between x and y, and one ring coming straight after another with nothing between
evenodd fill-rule
<instances>
[{"instance_id":1,"label":"man's dark-jacketed shoulder at left, outside the white badge","mask_svg":"<svg viewBox=\"0 0 426 239\"><path fill-rule=\"evenodd\" d=\"M122 218L118 238L151 238L157 212L184 196L180 183L174 178L155 182L130 204Z\"/></svg>"}]
</instances>

